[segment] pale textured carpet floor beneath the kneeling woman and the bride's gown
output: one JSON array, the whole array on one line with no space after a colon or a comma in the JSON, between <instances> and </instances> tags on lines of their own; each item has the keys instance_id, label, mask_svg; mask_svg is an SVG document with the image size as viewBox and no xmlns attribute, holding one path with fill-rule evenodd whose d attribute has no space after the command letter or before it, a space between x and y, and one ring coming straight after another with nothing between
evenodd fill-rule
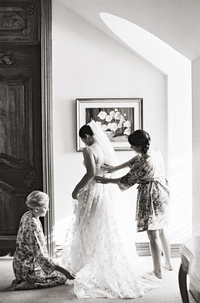
<instances>
[{"instance_id":1,"label":"pale textured carpet floor beneath the kneeling woman and the bride's gown","mask_svg":"<svg viewBox=\"0 0 200 303\"><path fill-rule=\"evenodd\" d=\"M152 267L151 257L144 258L146 264ZM9 291L8 287L15 278L12 271L12 257L0 257L0 302L1 303L182 303L179 286L178 270L180 258L172 258L173 271L163 268L163 287L145 292L144 296L136 299L107 299L91 298L78 299L73 292L73 285L60 285L45 289L26 291ZM196 303L189 292L190 303Z\"/></svg>"}]
</instances>

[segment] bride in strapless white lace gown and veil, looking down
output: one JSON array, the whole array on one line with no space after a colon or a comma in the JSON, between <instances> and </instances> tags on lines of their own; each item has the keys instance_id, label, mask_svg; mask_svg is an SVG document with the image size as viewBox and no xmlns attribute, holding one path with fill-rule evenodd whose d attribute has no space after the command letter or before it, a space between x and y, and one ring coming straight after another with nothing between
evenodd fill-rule
<instances>
[{"instance_id":1,"label":"bride in strapless white lace gown and veil, looking down","mask_svg":"<svg viewBox=\"0 0 200 303\"><path fill-rule=\"evenodd\" d=\"M116 164L109 139L92 122L80 129L79 136L87 146L83 149L87 172L72 193L74 214L62 254L62 263L76 274L75 294L78 298L137 298L162 287L160 279L144 273L136 250L132 262L128 261L115 217L114 188L94 180L95 175L105 175L103 163ZM121 203L126 208L125 201Z\"/></svg>"}]
</instances>

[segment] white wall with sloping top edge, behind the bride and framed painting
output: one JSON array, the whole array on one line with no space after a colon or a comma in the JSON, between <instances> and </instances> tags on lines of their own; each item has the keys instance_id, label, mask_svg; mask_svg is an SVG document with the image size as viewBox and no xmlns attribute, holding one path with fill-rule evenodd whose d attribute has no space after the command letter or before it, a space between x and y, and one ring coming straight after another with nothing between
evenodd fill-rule
<instances>
[{"instance_id":1,"label":"white wall with sloping top edge, behind the bride and framed painting","mask_svg":"<svg viewBox=\"0 0 200 303\"><path fill-rule=\"evenodd\" d=\"M55 232L56 245L62 245L72 214L71 193L85 173L82 153L76 152L75 99L143 98L143 128L167 166L166 77L58 1L52 3L52 63ZM117 154L121 162L134 155ZM127 194L134 220L136 186ZM174 229L171 242L173 234ZM137 234L136 242L142 241L148 241L146 233Z\"/></svg>"}]
</instances>

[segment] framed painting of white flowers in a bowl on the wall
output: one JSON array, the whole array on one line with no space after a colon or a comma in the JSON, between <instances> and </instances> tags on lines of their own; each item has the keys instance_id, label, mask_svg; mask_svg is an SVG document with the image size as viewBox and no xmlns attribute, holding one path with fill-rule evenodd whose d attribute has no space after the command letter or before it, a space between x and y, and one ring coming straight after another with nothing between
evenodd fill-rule
<instances>
[{"instance_id":1,"label":"framed painting of white flowers in a bowl on the wall","mask_svg":"<svg viewBox=\"0 0 200 303\"><path fill-rule=\"evenodd\" d=\"M128 135L143 128L142 98L76 99L77 151L85 144L78 136L79 129L89 122L97 123L116 151L130 151Z\"/></svg>"}]
</instances>

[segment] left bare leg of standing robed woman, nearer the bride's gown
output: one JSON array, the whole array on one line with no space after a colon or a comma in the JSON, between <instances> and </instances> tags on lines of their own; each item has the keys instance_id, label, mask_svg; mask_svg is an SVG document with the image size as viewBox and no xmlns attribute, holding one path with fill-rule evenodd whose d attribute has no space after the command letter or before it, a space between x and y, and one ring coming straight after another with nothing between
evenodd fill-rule
<instances>
[{"instance_id":1,"label":"left bare leg of standing robed woman, nearer the bride's gown","mask_svg":"<svg viewBox=\"0 0 200 303\"><path fill-rule=\"evenodd\" d=\"M161 241L158 230L148 230L147 235L150 243L150 250L153 259L154 273L157 278L162 279L161 272Z\"/></svg>"}]
</instances>

